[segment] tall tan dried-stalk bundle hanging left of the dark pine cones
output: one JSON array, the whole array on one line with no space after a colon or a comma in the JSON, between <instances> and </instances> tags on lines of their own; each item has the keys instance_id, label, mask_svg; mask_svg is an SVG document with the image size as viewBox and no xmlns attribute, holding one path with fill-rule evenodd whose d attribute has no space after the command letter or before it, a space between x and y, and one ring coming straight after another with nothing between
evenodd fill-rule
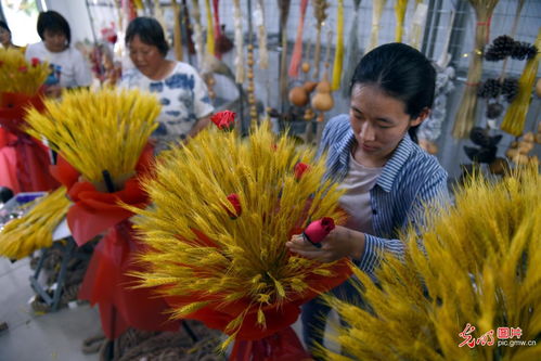
<instances>
[{"instance_id":1,"label":"tall tan dried-stalk bundle hanging left of the dark pine cones","mask_svg":"<svg viewBox=\"0 0 541 361\"><path fill-rule=\"evenodd\" d=\"M454 138L466 138L475 124L477 111L477 90L482 74L482 51L489 39L492 12L499 0L468 0L475 10L475 48L469 54L469 68L466 90L462 96L453 126Z\"/></svg>"}]
</instances>

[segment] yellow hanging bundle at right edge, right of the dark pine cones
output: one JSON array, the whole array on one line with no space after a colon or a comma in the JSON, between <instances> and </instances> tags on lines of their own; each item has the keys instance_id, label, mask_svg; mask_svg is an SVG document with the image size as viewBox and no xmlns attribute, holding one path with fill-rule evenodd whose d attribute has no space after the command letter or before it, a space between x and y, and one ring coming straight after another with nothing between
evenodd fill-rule
<instances>
[{"instance_id":1,"label":"yellow hanging bundle at right edge, right of the dark pine cones","mask_svg":"<svg viewBox=\"0 0 541 361\"><path fill-rule=\"evenodd\" d=\"M541 27L539 28L538 38L536 40L536 48L541 49ZM518 79L518 94L513 103L511 103L507 113L505 113L505 116L503 117L501 129L515 137L519 137L524 131L540 59L541 52L537 51L537 55L526 63L523 75L520 76L520 79Z\"/></svg>"}]
</instances>

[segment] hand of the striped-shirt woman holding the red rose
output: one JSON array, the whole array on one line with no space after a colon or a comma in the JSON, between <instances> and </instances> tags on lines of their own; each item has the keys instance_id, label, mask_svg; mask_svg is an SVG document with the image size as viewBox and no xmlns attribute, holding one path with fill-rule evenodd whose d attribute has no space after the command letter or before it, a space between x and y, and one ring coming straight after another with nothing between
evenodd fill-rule
<instances>
[{"instance_id":1,"label":"hand of the striped-shirt woman holding the red rose","mask_svg":"<svg viewBox=\"0 0 541 361\"><path fill-rule=\"evenodd\" d=\"M364 233L337 225L321 242L321 248L305 240L302 234L294 234L285 245L302 257L333 262L344 257L360 258L364 253Z\"/></svg>"}]
</instances>

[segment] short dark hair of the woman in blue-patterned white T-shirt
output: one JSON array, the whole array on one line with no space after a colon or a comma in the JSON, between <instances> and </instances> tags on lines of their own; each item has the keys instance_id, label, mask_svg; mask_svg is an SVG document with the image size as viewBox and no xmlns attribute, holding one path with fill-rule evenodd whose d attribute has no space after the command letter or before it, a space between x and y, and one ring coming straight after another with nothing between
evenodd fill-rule
<instances>
[{"instance_id":1,"label":"short dark hair of the woman in blue-patterned white T-shirt","mask_svg":"<svg viewBox=\"0 0 541 361\"><path fill-rule=\"evenodd\" d=\"M126 46L133 40L136 35L145 44L158 48L162 55L167 55L169 44L165 39L162 25L154 17L140 16L132 20L126 29Z\"/></svg>"}]
</instances>

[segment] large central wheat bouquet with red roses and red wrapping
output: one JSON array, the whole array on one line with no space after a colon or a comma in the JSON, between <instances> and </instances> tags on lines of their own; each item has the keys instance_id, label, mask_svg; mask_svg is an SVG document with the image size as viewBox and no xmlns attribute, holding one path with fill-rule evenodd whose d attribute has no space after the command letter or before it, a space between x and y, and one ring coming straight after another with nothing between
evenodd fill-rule
<instances>
[{"instance_id":1,"label":"large central wheat bouquet with red roses and red wrapping","mask_svg":"<svg viewBox=\"0 0 541 361\"><path fill-rule=\"evenodd\" d=\"M221 126L220 126L221 127ZM153 205L136 229L147 252L143 287L160 287L173 318L204 321L233 338L260 339L295 322L299 305L350 274L346 260L320 263L285 242L322 217L344 221L343 193L322 181L313 151L267 125L249 138L207 129L160 155L144 183Z\"/></svg>"}]
</instances>

